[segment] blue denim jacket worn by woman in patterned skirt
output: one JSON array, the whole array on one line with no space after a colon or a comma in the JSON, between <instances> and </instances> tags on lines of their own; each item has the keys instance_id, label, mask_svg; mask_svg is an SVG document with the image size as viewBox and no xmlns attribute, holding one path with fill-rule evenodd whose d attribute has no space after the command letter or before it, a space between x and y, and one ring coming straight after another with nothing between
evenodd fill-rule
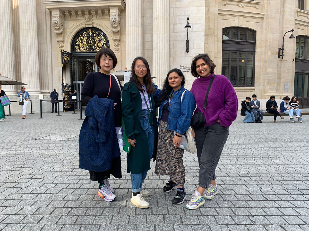
<instances>
[{"instance_id":1,"label":"blue denim jacket worn by woman in patterned skirt","mask_svg":"<svg viewBox=\"0 0 309 231\"><path fill-rule=\"evenodd\" d=\"M156 89L154 100L157 102L160 99L160 92L162 90L158 89L158 86L155 84L153 86ZM185 90L184 86L181 86L177 91L171 91L171 101L168 106L169 115L167 129L175 131L181 135L185 134L190 127L191 117L196 107L194 96L190 91L184 93L181 101L181 95ZM168 103L169 99L170 98L168 97L167 100L160 103L158 125L160 124L163 105Z\"/></svg>"}]
</instances>

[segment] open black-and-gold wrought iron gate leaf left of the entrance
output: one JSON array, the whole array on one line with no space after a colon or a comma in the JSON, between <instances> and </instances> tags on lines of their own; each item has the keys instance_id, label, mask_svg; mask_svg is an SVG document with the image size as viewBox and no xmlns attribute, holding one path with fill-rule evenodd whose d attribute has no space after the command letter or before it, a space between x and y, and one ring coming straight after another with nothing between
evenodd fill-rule
<instances>
[{"instance_id":1,"label":"open black-and-gold wrought iron gate leaf left of the entrance","mask_svg":"<svg viewBox=\"0 0 309 231\"><path fill-rule=\"evenodd\" d=\"M62 63L62 98L69 100L70 92L73 89L73 69L72 69L72 54L67 51L61 50L61 63ZM70 104L63 102L63 111L70 111Z\"/></svg>"}]
</instances>

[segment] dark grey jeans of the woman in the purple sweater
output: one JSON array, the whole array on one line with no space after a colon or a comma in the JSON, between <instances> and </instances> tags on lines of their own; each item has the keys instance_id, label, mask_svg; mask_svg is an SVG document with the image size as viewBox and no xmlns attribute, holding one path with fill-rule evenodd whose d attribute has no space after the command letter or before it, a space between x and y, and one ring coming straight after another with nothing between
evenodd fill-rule
<instances>
[{"instance_id":1,"label":"dark grey jeans of the woman in the purple sweater","mask_svg":"<svg viewBox=\"0 0 309 231\"><path fill-rule=\"evenodd\" d=\"M219 122L195 130L197 159L200 166L198 185L202 188L208 188L211 180L216 179L215 170L229 131L229 128L221 126Z\"/></svg>"}]
</instances>

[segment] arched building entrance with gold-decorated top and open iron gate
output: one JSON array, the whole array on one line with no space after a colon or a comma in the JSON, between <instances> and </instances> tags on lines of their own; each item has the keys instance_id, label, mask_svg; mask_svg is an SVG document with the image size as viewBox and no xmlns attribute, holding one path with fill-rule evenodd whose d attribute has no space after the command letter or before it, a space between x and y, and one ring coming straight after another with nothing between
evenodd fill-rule
<instances>
[{"instance_id":1,"label":"arched building entrance with gold-decorated top and open iron gate","mask_svg":"<svg viewBox=\"0 0 309 231\"><path fill-rule=\"evenodd\" d=\"M80 100L80 92L86 75L89 72L98 71L95 55L103 47L109 47L106 34L99 28L86 27L75 34L71 43L71 52L61 51L64 100L68 100L70 91L74 92L75 90L77 91L77 100ZM70 105L63 103L63 111L69 110Z\"/></svg>"}]
</instances>

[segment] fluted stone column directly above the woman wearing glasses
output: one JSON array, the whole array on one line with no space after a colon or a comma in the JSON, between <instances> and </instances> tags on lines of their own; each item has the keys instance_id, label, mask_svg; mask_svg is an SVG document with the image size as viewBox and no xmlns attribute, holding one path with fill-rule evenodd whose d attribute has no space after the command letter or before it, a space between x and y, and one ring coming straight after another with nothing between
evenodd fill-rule
<instances>
[{"instance_id":1,"label":"fluted stone column directly above the woman wearing glasses","mask_svg":"<svg viewBox=\"0 0 309 231\"><path fill-rule=\"evenodd\" d=\"M126 8L126 67L131 69L133 59L141 56L143 51L142 0L127 1Z\"/></svg>"}]
</instances>

